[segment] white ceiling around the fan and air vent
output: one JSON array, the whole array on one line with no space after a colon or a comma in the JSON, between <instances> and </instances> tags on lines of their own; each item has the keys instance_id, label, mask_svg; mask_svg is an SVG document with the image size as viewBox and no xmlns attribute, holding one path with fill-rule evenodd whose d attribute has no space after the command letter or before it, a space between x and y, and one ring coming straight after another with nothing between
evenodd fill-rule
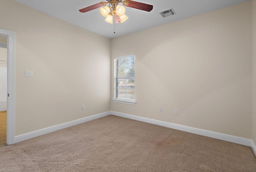
<instances>
[{"instance_id":1,"label":"white ceiling around the fan and air vent","mask_svg":"<svg viewBox=\"0 0 256 172\"><path fill-rule=\"evenodd\" d=\"M80 13L78 10L91 6L105 0L15 0L36 10L50 14L66 22L80 26L107 38L116 38L140 30L160 26L198 14L210 12L227 6L232 6L248 0L134 0L153 5L151 12L145 12L126 7L128 20L116 24L114 34L114 23L105 22L100 10L92 10ZM159 12L173 8L176 15L162 18ZM238 11L239 12L239 11Z\"/></svg>"}]
</instances>

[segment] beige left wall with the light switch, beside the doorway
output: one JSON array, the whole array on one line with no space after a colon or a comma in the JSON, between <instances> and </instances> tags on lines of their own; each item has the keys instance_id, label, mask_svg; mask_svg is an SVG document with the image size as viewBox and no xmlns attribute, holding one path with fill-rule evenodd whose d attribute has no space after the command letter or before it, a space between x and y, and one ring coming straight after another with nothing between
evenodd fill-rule
<instances>
[{"instance_id":1,"label":"beige left wall with the light switch, beside the doorway","mask_svg":"<svg viewBox=\"0 0 256 172\"><path fill-rule=\"evenodd\" d=\"M110 39L11 0L0 28L16 33L16 135L110 110Z\"/></svg>"}]
</instances>

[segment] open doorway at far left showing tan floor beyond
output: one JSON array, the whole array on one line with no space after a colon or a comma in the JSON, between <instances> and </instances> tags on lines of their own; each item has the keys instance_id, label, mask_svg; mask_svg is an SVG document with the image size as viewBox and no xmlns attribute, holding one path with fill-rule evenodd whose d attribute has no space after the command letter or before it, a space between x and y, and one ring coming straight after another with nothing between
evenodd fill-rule
<instances>
[{"instance_id":1,"label":"open doorway at far left showing tan floor beyond","mask_svg":"<svg viewBox=\"0 0 256 172\"><path fill-rule=\"evenodd\" d=\"M0 35L0 146L6 144L7 37Z\"/></svg>"}]
</instances>

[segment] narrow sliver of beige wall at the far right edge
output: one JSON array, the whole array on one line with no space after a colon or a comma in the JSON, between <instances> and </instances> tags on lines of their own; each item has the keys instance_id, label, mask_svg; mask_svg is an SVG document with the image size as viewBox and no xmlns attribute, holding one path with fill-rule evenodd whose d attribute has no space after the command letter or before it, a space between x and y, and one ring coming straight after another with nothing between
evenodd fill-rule
<instances>
[{"instance_id":1,"label":"narrow sliver of beige wall at the far right edge","mask_svg":"<svg viewBox=\"0 0 256 172\"><path fill-rule=\"evenodd\" d=\"M256 144L256 0L252 12L252 140Z\"/></svg>"}]
</instances>

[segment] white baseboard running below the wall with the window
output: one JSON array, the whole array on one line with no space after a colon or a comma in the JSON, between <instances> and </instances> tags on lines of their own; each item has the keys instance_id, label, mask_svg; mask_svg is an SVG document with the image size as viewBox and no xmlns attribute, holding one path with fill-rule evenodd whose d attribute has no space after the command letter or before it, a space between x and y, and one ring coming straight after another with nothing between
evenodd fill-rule
<instances>
[{"instance_id":1,"label":"white baseboard running below the wall with the window","mask_svg":"<svg viewBox=\"0 0 256 172\"><path fill-rule=\"evenodd\" d=\"M133 119L133 120L136 120L136 121L142 121L142 122L145 122L145 123L160 125L160 126L163 126L163 127L168 127L170 129L176 129L176 130L186 131L186 132L190 132L190 133L194 133L194 134L199 134L199 135L202 135L202 136L208 136L208 137L211 137L211 138L217 138L217 139L220 139L220 140L225 140L225 141L228 141L228 142L238 143L238 144L242 144L242 145L245 145L245 146L252 146L251 140L247 139L247 138L241 138L241 137L231 136L231 135L222 134L222 133L218 133L218 132L212 132L212 131L208 131L208 130L186 127L186 126L183 126L183 125L167 123L167 122L163 122L163 121L148 119L148 118L144 118L144 117L138 117L138 116L129 115L129 114L125 114L125 113L114 112L114 111L111 111L110 114L118 116L118 117Z\"/></svg>"}]
</instances>

